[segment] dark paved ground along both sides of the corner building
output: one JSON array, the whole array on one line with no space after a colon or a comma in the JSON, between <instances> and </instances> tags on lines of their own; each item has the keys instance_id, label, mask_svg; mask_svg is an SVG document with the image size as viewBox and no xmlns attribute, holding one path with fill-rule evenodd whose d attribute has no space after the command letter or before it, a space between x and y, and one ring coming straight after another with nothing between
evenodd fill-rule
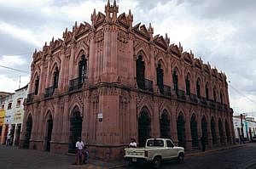
<instances>
[{"instance_id":1,"label":"dark paved ground along both sides of the corner building","mask_svg":"<svg viewBox=\"0 0 256 169\"><path fill-rule=\"evenodd\" d=\"M34 168L86 168L105 169L108 164L90 160L90 164L75 166L72 163L75 156L52 155L32 149L18 149L17 147L5 147L0 145L0 168L1 169L34 169ZM149 168L149 165L127 166L126 169ZM169 161L162 165L162 169L254 169L256 168L256 144L215 152L207 152L207 155L196 154L185 157L183 164Z\"/></svg>"}]
</instances>

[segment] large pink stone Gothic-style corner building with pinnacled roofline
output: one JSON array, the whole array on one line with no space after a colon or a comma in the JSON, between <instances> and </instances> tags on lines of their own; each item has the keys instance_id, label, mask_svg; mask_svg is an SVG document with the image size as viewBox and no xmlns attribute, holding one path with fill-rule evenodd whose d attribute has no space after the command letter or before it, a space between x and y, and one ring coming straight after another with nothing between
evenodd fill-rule
<instances>
[{"instance_id":1,"label":"large pink stone Gothic-style corner building with pinnacled roofline","mask_svg":"<svg viewBox=\"0 0 256 169\"><path fill-rule=\"evenodd\" d=\"M78 137L90 156L123 156L131 138L172 138L186 149L233 144L224 73L184 52L149 25L133 25L115 1L91 24L73 25L32 56L20 147L74 152Z\"/></svg>"}]
</instances>

